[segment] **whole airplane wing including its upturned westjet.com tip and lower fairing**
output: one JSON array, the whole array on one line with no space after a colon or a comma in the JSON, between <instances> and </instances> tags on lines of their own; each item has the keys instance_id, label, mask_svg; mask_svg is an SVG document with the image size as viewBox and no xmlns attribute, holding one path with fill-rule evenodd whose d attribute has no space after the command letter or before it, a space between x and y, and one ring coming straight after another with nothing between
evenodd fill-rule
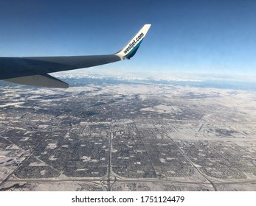
<instances>
[{"instance_id":1,"label":"whole airplane wing including its upturned westjet.com tip and lower fairing","mask_svg":"<svg viewBox=\"0 0 256 206\"><path fill-rule=\"evenodd\" d=\"M0 80L22 85L69 88L66 82L48 73L129 60L136 53L150 27L151 24L145 24L134 38L115 54L70 57L0 57Z\"/></svg>"}]
</instances>

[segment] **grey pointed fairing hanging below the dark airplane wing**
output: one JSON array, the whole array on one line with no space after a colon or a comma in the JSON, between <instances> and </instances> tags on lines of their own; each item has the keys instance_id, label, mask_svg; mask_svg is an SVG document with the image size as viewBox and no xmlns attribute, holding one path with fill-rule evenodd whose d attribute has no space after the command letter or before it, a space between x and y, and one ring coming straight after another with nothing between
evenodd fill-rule
<instances>
[{"instance_id":1,"label":"grey pointed fairing hanging below the dark airplane wing","mask_svg":"<svg viewBox=\"0 0 256 206\"><path fill-rule=\"evenodd\" d=\"M4 79L7 82L12 82L21 85L31 85L46 88L69 88L69 84L50 76L49 74L32 75L27 77L16 77Z\"/></svg>"}]
</instances>

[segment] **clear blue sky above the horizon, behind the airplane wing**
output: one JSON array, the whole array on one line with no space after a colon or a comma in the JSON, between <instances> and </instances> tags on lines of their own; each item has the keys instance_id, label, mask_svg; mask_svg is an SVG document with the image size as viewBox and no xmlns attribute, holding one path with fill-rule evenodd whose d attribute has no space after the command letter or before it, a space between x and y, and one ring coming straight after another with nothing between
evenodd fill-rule
<instances>
[{"instance_id":1,"label":"clear blue sky above the horizon, behind the airplane wing","mask_svg":"<svg viewBox=\"0 0 256 206\"><path fill-rule=\"evenodd\" d=\"M152 24L132 60L103 69L256 75L256 1L1 1L0 56L110 54Z\"/></svg>"}]
</instances>

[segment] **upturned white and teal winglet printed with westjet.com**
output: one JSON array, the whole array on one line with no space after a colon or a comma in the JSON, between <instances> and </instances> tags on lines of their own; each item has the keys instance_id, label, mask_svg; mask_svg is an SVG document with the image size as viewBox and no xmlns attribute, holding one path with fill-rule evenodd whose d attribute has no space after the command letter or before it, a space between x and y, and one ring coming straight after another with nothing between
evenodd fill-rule
<instances>
[{"instance_id":1,"label":"upturned white and teal winglet printed with westjet.com","mask_svg":"<svg viewBox=\"0 0 256 206\"><path fill-rule=\"evenodd\" d=\"M139 45L142 43L150 27L151 24L145 24L142 29L136 33L134 38L132 38L121 51L117 52L116 55L121 57L122 60L134 57L134 54L139 49Z\"/></svg>"}]
</instances>

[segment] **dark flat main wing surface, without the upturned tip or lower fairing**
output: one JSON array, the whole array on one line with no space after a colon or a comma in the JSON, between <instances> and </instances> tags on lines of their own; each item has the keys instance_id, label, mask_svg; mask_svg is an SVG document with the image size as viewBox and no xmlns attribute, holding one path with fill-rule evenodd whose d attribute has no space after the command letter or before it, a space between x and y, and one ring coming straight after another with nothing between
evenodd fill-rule
<instances>
[{"instance_id":1,"label":"dark flat main wing surface, without the upturned tip or lower fairing","mask_svg":"<svg viewBox=\"0 0 256 206\"><path fill-rule=\"evenodd\" d=\"M0 57L0 79L88 68L120 61L117 55L73 57Z\"/></svg>"}]
</instances>

